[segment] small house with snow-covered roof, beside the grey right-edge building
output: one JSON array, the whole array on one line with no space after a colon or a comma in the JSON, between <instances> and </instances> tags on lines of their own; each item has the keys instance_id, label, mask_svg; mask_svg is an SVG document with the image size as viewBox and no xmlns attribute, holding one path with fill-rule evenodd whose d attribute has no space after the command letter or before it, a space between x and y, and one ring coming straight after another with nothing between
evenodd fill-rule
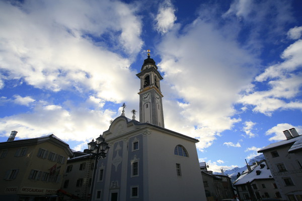
<instances>
[{"instance_id":1,"label":"small house with snow-covered roof, beside the grey right-edge building","mask_svg":"<svg viewBox=\"0 0 302 201\"><path fill-rule=\"evenodd\" d=\"M236 187L241 201L281 198L279 189L265 160L253 165L247 164L247 170L238 176L233 185Z\"/></svg>"}]
</instances>

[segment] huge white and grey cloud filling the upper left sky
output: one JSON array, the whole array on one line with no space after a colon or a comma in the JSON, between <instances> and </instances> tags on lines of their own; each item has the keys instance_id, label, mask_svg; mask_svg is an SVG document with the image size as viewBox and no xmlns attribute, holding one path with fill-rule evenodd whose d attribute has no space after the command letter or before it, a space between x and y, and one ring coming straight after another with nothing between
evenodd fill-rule
<instances>
[{"instance_id":1,"label":"huge white and grey cloud filling the upper left sky","mask_svg":"<svg viewBox=\"0 0 302 201\"><path fill-rule=\"evenodd\" d=\"M142 41L134 13L118 1L0 2L0 19L10 19L0 21L0 66L10 72L2 80L23 78L52 91L93 90L112 102L133 97L136 88L120 86L136 83L129 65Z\"/></svg>"}]
</instances>

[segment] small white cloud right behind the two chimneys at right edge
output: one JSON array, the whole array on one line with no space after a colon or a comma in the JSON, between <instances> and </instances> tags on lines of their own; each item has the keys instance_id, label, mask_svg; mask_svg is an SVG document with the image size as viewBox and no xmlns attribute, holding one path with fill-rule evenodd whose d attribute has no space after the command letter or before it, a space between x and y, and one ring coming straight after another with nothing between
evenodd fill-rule
<instances>
[{"instance_id":1,"label":"small white cloud right behind the two chimneys at right edge","mask_svg":"<svg viewBox=\"0 0 302 201\"><path fill-rule=\"evenodd\" d=\"M298 133L302 132L302 126L293 126L291 124L282 123L282 124L277 124L276 126L267 130L265 132L265 135L273 135L272 137L269 138L269 141L286 140L286 137L283 134L283 131L289 130L291 128L295 128Z\"/></svg>"}]
</instances>

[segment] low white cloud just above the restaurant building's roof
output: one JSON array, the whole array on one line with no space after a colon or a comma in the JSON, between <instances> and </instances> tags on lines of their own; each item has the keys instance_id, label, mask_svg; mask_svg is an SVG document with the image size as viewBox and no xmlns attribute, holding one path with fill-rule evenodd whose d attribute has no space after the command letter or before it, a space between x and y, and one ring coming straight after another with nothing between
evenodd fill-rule
<instances>
[{"instance_id":1,"label":"low white cloud just above the restaurant building's roof","mask_svg":"<svg viewBox=\"0 0 302 201\"><path fill-rule=\"evenodd\" d=\"M106 131L109 120L117 116L110 110L88 109L85 104L75 106L70 101L63 106L39 102L33 107L30 113L1 118L0 134L8 136L7 131L16 130L20 139L54 134L64 141L86 142Z\"/></svg>"}]
</instances>

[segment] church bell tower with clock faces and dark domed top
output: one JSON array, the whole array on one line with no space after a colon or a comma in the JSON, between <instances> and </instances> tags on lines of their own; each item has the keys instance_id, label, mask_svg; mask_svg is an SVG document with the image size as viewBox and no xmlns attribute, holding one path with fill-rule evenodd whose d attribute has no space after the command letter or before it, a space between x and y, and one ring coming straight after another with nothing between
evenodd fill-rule
<instances>
[{"instance_id":1,"label":"church bell tower with clock faces and dark domed top","mask_svg":"<svg viewBox=\"0 0 302 201\"><path fill-rule=\"evenodd\" d=\"M165 128L163 113L163 94L160 81L163 79L155 61L150 58L150 50L147 50L148 58L144 60L140 73L136 76L140 79L139 89L139 122L150 123Z\"/></svg>"}]
</instances>

